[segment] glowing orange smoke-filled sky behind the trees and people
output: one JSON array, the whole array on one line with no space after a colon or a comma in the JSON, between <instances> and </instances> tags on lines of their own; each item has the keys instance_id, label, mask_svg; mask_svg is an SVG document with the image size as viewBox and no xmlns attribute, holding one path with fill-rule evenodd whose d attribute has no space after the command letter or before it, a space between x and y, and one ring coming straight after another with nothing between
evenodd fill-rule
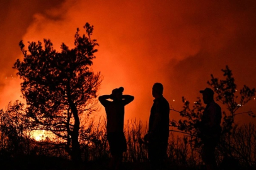
<instances>
[{"instance_id":1,"label":"glowing orange smoke-filled sky behind the trees and people","mask_svg":"<svg viewBox=\"0 0 256 170\"><path fill-rule=\"evenodd\" d=\"M238 89L256 88L256 1L0 1L0 108L21 99L11 68L22 57L20 40L50 38L55 48L62 42L73 47L76 28L84 33L86 22L95 26L100 44L93 62L104 77L99 95L124 86L125 94L135 96L125 120L148 121L154 82L162 82L177 110L182 96L195 101L211 74L222 77L225 65ZM256 113L256 100L250 109ZM102 114L103 108L95 113ZM170 118L179 117L171 112Z\"/></svg>"}]
</instances>

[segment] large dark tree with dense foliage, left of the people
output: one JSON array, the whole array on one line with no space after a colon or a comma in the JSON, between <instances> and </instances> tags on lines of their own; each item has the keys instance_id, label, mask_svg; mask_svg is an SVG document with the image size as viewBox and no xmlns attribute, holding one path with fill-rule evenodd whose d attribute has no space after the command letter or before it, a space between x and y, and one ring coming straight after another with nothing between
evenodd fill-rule
<instances>
[{"instance_id":1,"label":"large dark tree with dense foliage, left of the people","mask_svg":"<svg viewBox=\"0 0 256 170\"><path fill-rule=\"evenodd\" d=\"M62 43L61 52L52 42L28 42L28 51L21 41L23 61L16 60L14 69L23 79L21 93L26 99L26 116L31 128L48 130L65 140L64 147L71 159L81 161L79 128L81 118L96 110L96 92L102 82L100 73L90 66L95 59L96 40L91 39L93 26L84 25L86 35L77 28L74 48Z\"/></svg>"}]
</instances>

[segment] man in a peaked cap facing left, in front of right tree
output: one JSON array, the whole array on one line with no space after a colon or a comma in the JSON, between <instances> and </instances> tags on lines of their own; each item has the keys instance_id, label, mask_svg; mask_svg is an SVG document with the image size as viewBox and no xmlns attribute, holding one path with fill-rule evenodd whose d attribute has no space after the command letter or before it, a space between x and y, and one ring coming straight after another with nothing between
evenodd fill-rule
<instances>
[{"instance_id":1,"label":"man in a peaked cap facing left, in front of right tree","mask_svg":"<svg viewBox=\"0 0 256 170\"><path fill-rule=\"evenodd\" d=\"M217 168L214 150L221 133L221 107L214 101L214 92L210 88L199 91L206 108L202 113L202 120L197 124L202 140L202 160L207 170Z\"/></svg>"}]
</instances>

